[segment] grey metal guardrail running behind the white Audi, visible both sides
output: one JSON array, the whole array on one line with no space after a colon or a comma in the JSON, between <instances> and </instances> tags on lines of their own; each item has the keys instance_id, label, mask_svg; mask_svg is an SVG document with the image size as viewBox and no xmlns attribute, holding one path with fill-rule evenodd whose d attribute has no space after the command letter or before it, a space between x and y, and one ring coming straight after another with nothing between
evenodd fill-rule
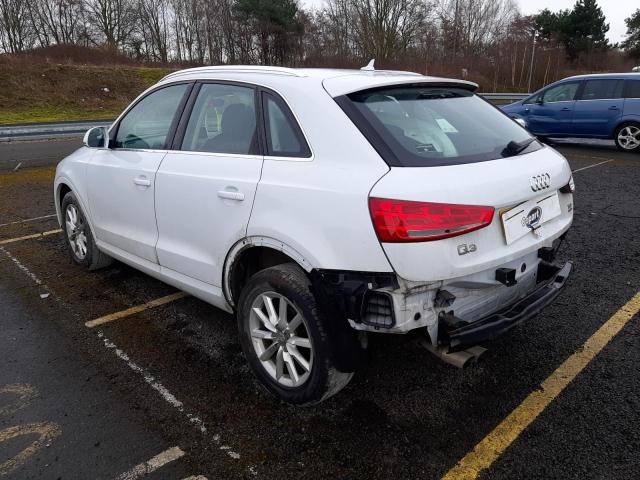
<instances>
[{"instance_id":1,"label":"grey metal guardrail running behind the white Audi, visible both sides","mask_svg":"<svg viewBox=\"0 0 640 480\"><path fill-rule=\"evenodd\" d=\"M480 93L489 101L517 102L530 93ZM44 138L81 137L92 127L110 125L113 120L87 120L82 122L30 123L22 125L0 125L0 142L13 140L35 140Z\"/></svg>"}]
</instances>

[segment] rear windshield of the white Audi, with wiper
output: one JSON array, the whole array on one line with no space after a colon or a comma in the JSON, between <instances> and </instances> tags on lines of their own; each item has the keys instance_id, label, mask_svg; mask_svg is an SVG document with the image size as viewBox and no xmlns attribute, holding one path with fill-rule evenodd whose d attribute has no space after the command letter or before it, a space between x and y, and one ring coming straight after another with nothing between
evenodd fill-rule
<instances>
[{"instance_id":1,"label":"rear windshield of the white Audi, with wiper","mask_svg":"<svg viewBox=\"0 0 640 480\"><path fill-rule=\"evenodd\" d=\"M524 128L463 88L390 87L336 100L391 166L457 165L541 148Z\"/></svg>"}]
</instances>

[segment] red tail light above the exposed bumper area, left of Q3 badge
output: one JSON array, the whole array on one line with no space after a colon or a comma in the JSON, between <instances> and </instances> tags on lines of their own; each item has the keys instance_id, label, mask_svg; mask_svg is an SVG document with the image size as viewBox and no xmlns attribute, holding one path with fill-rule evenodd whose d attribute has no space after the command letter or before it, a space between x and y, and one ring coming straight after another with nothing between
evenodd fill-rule
<instances>
[{"instance_id":1,"label":"red tail light above the exposed bumper area, left of Q3 badge","mask_svg":"<svg viewBox=\"0 0 640 480\"><path fill-rule=\"evenodd\" d=\"M369 211L381 242L427 242L484 228L493 207L369 198Z\"/></svg>"}]
</instances>

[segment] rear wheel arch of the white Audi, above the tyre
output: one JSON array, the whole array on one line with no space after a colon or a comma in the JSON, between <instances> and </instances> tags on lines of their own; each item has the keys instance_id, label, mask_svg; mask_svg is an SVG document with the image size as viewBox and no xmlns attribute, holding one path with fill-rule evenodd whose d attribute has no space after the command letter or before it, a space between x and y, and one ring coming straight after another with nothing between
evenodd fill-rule
<instances>
[{"instance_id":1,"label":"rear wheel arch of the white Audi, above the tyre","mask_svg":"<svg viewBox=\"0 0 640 480\"><path fill-rule=\"evenodd\" d=\"M251 275L283 263L295 263L309 273L313 265L295 248L271 237L250 236L237 242L224 262L222 290L233 308Z\"/></svg>"}]
</instances>

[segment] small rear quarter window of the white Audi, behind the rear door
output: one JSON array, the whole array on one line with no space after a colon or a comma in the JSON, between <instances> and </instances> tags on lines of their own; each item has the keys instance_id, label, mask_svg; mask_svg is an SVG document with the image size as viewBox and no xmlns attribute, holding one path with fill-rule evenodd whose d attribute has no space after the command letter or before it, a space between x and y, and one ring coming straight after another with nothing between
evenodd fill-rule
<instances>
[{"instance_id":1,"label":"small rear quarter window of the white Audi, behind the rear door","mask_svg":"<svg viewBox=\"0 0 640 480\"><path fill-rule=\"evenodd\" d=\"M279 157L310 157L298 123L282 100L270 93L263 93L267 154Z\"/></svg>"}]
</instances>

